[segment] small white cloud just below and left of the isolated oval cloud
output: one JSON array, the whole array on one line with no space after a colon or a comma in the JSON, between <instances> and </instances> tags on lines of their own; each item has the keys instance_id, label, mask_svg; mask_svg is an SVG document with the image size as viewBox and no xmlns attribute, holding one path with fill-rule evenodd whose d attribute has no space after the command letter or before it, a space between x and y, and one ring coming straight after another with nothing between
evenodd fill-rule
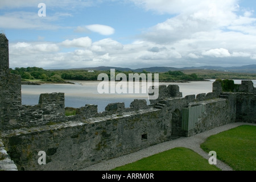
<instances>
[{"instance_id":1,"label":"small white cloud just below and left of the isolated oval cloud","mask_svg":"<svg viewBox=\"0 0 256 182\"><path fill-rule=\"evenodd\" d=\"M65 47L90 47L92 45L92 39L86 36L73 40L65 40L60 45Z\"/></svg>"}]
</instances>

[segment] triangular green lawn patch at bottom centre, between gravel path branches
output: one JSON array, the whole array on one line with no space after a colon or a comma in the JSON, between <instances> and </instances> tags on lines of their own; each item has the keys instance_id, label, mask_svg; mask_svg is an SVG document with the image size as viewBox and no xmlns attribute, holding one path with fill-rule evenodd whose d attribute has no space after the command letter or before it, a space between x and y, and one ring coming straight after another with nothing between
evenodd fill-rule
<instances>
[{"instance_id":1,"label":"triangular green lawn patch at bottom centre, between gravel path branches","mask_svg":"<svg viewBox=\"0 0 256 182\"><path fill-rule=\"evenodd\" d=\"M113 171L218 171L207 159L188 148L173 148L117 167Z\"/></svg>"}]
</instances>

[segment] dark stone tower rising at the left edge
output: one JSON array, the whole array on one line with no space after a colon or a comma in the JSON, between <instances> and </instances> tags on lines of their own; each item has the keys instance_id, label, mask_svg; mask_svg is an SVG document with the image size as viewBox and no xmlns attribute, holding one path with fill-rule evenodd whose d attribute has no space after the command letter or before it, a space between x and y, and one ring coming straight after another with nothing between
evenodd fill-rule
<instances>
[{"instance_id":1,"label":"dark stone tower rising at the left edge","mask_svg":"<svg viewBox=\"0 0 256 182\"><path fill-rule=\"evenodd\" d=\"M21 78L9 71L9 40L0 34L0 130L14 125L21 105Z\"/></svg>"}]
</instances>

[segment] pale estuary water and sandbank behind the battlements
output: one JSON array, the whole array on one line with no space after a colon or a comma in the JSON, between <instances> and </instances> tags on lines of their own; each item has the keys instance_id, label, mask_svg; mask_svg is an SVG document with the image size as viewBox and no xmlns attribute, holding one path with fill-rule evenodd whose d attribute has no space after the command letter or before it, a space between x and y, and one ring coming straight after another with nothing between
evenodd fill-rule
<instances>
[{"instance_id":1,"label":"pale estuary water and sandbank behind the battlements","mask_svg":"<svg viewBox=\"0 0 256 182\"><path fill-rule=\"evenodd\" d=\"M212 83L215 80L209 81L191 81L186 83L160 82L159 85L179 85L180 92L183 97L191 94L209 93L212 92ZM110 103L125 102L125 107L129 107L134 99L145 99L148 104L147 94L128 93L127 94L100 94L97 87L100 81L71 81L74 84L43 84L43 85L22 85L22 104L36 105L39 101L39 96L42 93L62 92L65 93L65 107L79 108L86 104L98 105L98 111L104 111L105 107ZM241 80L234 80L235 84L241 84ZM256 80L253 80L256 87ZM115 84L118 84L116 82ZM142 85L140 85L142 86ZM126 88L123 88L126 89Z\"/></svg>"}]
</instances>

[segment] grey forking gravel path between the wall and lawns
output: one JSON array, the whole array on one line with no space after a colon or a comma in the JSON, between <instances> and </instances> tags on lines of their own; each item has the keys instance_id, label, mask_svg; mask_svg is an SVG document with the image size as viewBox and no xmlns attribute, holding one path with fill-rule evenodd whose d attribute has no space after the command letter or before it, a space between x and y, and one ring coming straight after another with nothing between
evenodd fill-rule
<instances>
[{"instance_id":1,"label":"grey forking gravel path between the wall and lawns","mask_svg":"<svg viewBox=\"0 0 256 182\"><path fill-rule=\"evenodd\" d=\"M218 133L221 133L222 131L226 131L229 129L233 129L234 127L238 127L241 125L253 125L256 126L256 124L253 123L230 123L228 125L216 127L212 130L205 131L204 133L197 134L192 137L181 137L175 140L171 140L168 142L156 144L155 146L151 146L148 148L144 148L140 151L134 152L132 154L124 155L119 158L106 160L98 164L94 164L92 166L86 167L84 169L81 169L82 171L109 171L115 167L123 166L125 164L129 164L132 162L136 162L137 160L140 160L142 158L146 158L148 156L158 154L159 152L167 151L172 148L176 147L185 147L190 148L191 150L197 152L201 156L203 156L205 159L209 159L210 156L208 153L204 152L200 148L200 144L203 143L208 137L211 135L215 135ZM218 155L218 154L217 154ZM218 168L222 169L222 171L232 171L232 168L230 168L225 163L221 162L220 160L217 160Z\"/></svg>"}]
</instances>

